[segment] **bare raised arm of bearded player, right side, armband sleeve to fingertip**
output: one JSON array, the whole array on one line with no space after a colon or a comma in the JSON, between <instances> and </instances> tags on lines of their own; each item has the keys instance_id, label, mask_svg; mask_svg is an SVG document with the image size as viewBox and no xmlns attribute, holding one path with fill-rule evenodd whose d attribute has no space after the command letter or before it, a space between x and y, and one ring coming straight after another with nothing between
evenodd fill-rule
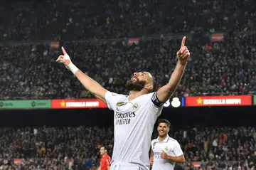
<instances>
[{"instance_id":1,"label":"bare raised arm of bearded player, right side, armband sleeve to fingertip","mask_svg":"<svg viewBox=\"0 0 256 170\"><path fill-rule=\"evenodd\" d=\"M157 92L156 96L160 102L166 102L169 100L173 92L176 90L178 83L181 81L184 70L186 68L186 63L190 56L188 48L185 46L186 36L182 38L181 49L177 52L178 63L172 73L169 83L161 87Z\"/></svg>"}]
</instances>

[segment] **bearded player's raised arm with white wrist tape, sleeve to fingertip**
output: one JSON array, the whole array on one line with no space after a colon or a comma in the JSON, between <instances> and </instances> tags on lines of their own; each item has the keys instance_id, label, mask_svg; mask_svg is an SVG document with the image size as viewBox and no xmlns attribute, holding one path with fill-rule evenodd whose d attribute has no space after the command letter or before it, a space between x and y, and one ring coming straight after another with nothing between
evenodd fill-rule
<instances>
[{"instance_id":1,"label":"bearded player's raised arm with white wrist tape, sleeve to fingertip","mask_svg":"<svg viewBox=\"0 0 256 170\"><path fill-rule=\"evenodd\" d=\"M63 63L66 68L68 68L82 83L82 85L92 92L92 95L95 95L95 97L99 98L100 100L106 102L105 100L105 94L107 90L103 88L99 83L97 83L95 80L92 80L89 76L85 75L80 71L70 60L69 55L66 53L65 49L62 47L61 48L63 51L63 55L60 55L58 59L56 60L57 62Z\"/></svg>"}]
</instances>

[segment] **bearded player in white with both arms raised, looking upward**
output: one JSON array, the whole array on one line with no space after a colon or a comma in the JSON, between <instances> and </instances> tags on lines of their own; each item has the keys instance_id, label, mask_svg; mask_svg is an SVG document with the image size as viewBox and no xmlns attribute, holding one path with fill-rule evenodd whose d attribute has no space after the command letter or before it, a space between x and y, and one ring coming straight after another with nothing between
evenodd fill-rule
<instances>
[{"instance_id":1,"label":"bearded player in white with both arms raised, looking upward","mask_svg":"<svg viewBox=\"0 0 256 170\"><path fill-rule=\"evenodd\" d=\"M129 95L107 91L95 80L82 73L62 48L64 55L60 55L57 61L64 63L87 90L106 102L110 110L114 110L114 151L110 169L149 169L148 153L154 123L161 114L164 102L169 100L176 90L190 56L185 41L186 37L183 37L181 48L176 53L178 63L169 83L154 92L154 78L150 73L134 73L127 82Z\"/></svg>"}]
</instances>

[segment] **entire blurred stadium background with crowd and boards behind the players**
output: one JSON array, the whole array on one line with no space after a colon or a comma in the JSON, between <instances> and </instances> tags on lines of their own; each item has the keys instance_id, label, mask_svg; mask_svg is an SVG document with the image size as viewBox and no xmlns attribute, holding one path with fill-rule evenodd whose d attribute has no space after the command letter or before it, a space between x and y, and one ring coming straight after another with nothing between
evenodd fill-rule
<instances>
[{"instance_id":1,"label":"entire blurred stadium background with crowd and boards behind the players","mask_svg":"<svg viewBox=\"0 0 256 170\"><path fill-rule=\"evenodd\" d=\"M135 71L169 81L191 52L160 118L181 144L176 169L255 169L256 1L1 0L0 169L93 170L112 155L113 113L55 63L127 93ZM157 132L152 138L157 137Z\"/></svg>"}]
</instances>

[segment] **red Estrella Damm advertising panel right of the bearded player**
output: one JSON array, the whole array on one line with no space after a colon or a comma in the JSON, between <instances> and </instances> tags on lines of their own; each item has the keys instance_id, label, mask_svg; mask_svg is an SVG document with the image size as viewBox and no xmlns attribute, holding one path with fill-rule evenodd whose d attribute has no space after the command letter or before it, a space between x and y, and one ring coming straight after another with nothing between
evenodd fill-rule
<instances>
[{"instance_id":1,"label":"red Estrella Damm advertising panel right of the bearded player","mask_svg":"<svg viewBox=\"0 0 256 170\"><path fill-rule=\"evenodd\" d=\"M186 97L186 106L247 106L252 105L251 95Z\"/></svg>"}]
</instances>

